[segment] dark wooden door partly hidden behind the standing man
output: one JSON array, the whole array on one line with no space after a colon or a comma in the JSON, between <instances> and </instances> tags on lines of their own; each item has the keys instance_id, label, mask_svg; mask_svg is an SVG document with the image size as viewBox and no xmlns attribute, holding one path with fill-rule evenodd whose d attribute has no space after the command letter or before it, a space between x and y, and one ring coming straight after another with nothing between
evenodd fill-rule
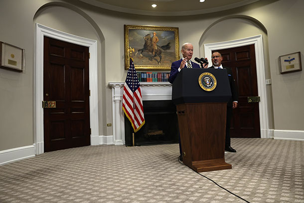
<instances>
[{"instance_id":1,"label":"dark wooden door partly hidden behind the standing man","mask_svg":"<svg viewBox=\"0 0 304 203\"><path fill-rule=\"evenodd\" d=\"M238 108L233 109L230 136L260 138L259 103L248 103L247 99L247 97L259 96L254 45L217 51L223 56L223 66L232 69L239 93Z\"/></svg>"}]
</instances>

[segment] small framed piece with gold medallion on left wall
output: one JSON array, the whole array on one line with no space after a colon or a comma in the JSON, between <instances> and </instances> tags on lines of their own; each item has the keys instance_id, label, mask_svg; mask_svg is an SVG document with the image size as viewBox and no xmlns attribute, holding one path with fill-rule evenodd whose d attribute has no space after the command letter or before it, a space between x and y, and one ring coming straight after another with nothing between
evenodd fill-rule
<instances>
[{"instance_id":1,"label":"small framed piece with gold medallion on left wall","mask_svg":"<svg viewBox=\"0 0 304 203\"><path fill-rule=\"evenodd\" d=\"M22 72L24 65L24 49L0 41L0 67Z\"/></svg>"}]
</instances>

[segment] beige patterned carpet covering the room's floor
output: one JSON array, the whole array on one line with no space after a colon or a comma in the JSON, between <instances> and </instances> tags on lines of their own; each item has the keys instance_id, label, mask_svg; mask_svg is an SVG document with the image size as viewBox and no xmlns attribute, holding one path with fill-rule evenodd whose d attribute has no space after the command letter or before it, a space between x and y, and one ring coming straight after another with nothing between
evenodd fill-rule
<instances>
[{"instance_id":1,"label":"beige patterned carpet covering the room's floor","mask_svg":"<svg viewBox=\"0 0 304 203\"><path fill-rule=\"evenodd\" d=\"M250 203L304 203L304 142L232 139L204 176ZM88 146L0 166L0 203L244 203L178 162L178 144Z\"/></svg>"}]
</instances>

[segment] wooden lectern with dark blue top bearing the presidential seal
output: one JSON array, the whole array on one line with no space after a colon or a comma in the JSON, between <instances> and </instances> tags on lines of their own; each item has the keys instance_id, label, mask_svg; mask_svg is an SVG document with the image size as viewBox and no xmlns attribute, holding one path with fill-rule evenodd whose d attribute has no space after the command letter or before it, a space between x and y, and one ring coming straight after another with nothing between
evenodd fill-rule
<instances>
[{"instance_id":1,"label":"wooden lectern with dark blue top bearing the presidential seal","mask_svg":"<svg viewBox=\"0 0 304 203\"><path fill-rule=\"evenodd\" d=\"M199 77L213 74L216 87L205 91ZM196 172L231 169L225 162L227 102L231 97L227 71L183 68L172 84L183 163Z\"/></svg>"}]
</instances>

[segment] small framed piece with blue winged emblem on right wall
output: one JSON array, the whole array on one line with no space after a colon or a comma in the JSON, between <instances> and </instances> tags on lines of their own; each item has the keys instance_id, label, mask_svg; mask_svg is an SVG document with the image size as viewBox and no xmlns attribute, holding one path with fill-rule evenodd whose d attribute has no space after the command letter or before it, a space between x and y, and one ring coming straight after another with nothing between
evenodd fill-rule
<instances>
[{"instance_id":1,"label":"small framed piece with blue winged emblem on right wall","mask_svg":"<svg viewBox=\"0 0 304 203\"><path fill-rule=\"evenodd\" d=\"M300 51L280 56L279 61L281 74L302 71Z\"/></svg>"}]
</instances>

